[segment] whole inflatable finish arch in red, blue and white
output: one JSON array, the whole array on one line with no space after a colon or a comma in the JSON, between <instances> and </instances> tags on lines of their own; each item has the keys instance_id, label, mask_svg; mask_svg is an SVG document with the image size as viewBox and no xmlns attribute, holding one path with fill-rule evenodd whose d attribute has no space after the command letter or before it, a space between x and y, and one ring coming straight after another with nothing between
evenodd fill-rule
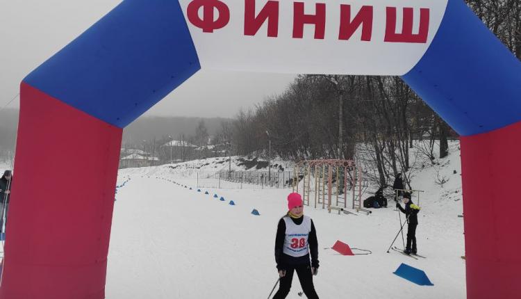
<instances>
[{"instance_id":1,"label":"whole inflatable finish arch in red, blue and white","mask_svg":"<svg viewBox=\"0 0 521 299\"><path fill-rule=\"evenodd\" d=\"M122 128L202 66L401 75L462 136L468 298L518 298L521 63L463 0L322 2L125 0L29 74L0 297L104 298Z\"/></svg>"}]
</instances>

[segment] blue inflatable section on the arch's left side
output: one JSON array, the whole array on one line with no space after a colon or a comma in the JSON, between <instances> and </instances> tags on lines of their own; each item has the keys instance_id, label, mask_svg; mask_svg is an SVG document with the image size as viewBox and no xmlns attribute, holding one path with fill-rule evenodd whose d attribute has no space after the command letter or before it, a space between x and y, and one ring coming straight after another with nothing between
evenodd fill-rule
<instances>
[{"instance_id":1,"label":"blue inflatable section on the arch's left side","mask_svg":"<svg viewBox=\"0 0 521 299\"><path fill-rule=\"evenodd\" d=\"M125 0L24 81L117 127L201 68L176 0Z\"/></svg>"}]
</instances>

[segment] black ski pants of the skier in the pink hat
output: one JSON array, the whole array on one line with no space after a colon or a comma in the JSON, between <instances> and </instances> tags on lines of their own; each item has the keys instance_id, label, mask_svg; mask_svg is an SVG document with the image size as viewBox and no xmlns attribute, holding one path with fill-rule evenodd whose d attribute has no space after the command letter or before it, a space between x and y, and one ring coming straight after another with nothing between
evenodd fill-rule
<instances>
[{"instance_id":1,"label":"black ski pants of the skier in the pink hat","mask_svg":"<svg viewBox=\"0 0 521 299\"><path fill-rule=\"evenodd\" d=\"M306 294L308 299L318 299L315 286L313 286L313 273L311 273L311 264L286 266L286 276L281 277L279 284L279 291L275 293L273 299L283 299L288 296L291 289L291 282L293 280L293 270L297 271L302 291Z\"/></svg>"}]
</instances>

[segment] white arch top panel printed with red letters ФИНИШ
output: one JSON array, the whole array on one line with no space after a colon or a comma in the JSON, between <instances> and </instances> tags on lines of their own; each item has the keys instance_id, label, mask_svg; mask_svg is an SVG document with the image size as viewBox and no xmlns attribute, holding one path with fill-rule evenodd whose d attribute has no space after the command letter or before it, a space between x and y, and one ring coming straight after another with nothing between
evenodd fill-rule
<instances>
[{"instance_id":1,"label":"white arch top panel printed with red letters \u0424\u0418\u041d\u0418\u0428","mask_svg":"<svg viewBox=\"0 0 521 299\"><path fill-rule=\"evenodd\" d=\"M448 0L179 0L201 67L406 74Z\"/></svg>"}]
</instances>

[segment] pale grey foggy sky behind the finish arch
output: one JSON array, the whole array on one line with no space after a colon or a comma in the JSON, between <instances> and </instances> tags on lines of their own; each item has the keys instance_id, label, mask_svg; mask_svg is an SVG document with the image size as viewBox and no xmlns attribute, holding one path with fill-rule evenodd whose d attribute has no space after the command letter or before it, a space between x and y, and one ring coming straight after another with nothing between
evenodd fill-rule
<instances>
[{"instance_id":1,"label":"pale grey foggy sky behind the finish arch","mask_svg":"<svg viewBox=\"0 0 521 299\"><path fill-rule=\"evenodd\" d=\"M0 1L0 108L24 77L117 6L120 0ZM233 117L281 93L291 74L201 70L145 115ZM9 107L17 108L18 100Z\"/></svg>"}]
</instances>

